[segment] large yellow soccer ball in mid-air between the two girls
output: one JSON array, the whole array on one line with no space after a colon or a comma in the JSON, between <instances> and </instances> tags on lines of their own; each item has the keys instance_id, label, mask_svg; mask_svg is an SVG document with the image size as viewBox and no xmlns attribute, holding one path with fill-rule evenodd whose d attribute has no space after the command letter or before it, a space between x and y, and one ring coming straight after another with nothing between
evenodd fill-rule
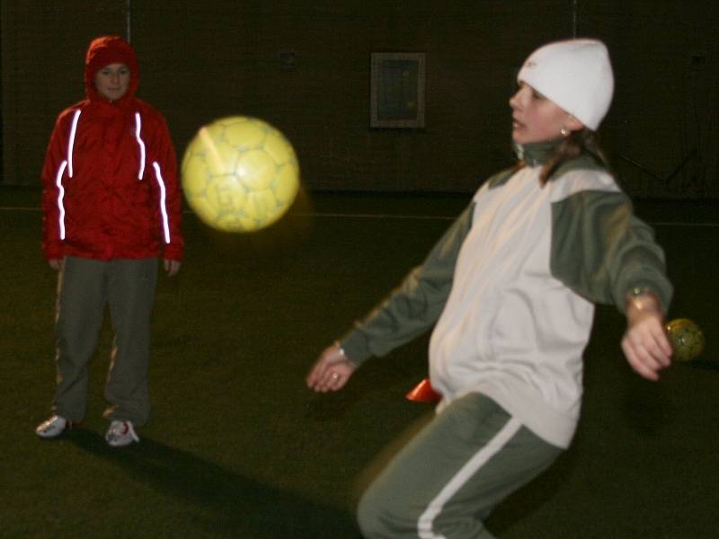
<instances>
[{"instance_id":1,"label":"large yellow soccer ball in mid-air between the two girls","mask_svg":"<svg viewBox=\"0 0 719 539\"><path fill-rule=\"evenodd\" d=\"M217 119L200 128L185 150L182 190L206 225L225 232L260 230L280 219L297 197L297 155L262 119Z\"/></svg>"}]
</instances>

